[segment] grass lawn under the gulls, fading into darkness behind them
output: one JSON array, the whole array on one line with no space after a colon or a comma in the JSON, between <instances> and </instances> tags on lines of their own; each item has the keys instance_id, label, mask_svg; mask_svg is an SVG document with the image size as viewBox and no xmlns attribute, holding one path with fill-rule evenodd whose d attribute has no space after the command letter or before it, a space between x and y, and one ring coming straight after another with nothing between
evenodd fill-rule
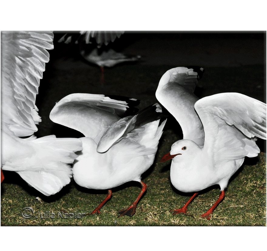
<instances>
[{"instance_id":1,"label":"grass lawn under the gulls, fading into darkness behind them","mask_svg":"<svg viewBox=\"0 0 267 251\"><path fill-rule=\"evenodd\" d=\"M75 137L73 131L49 120L55 102L70 93L103 93L124 95L142 100L140 108L156 103L155 91L164 72L176 66L118 65L106 69L106 83L101 87L100 69L60 70L47 67L37 95L37 107L42 117L36 133L38 137L56 134L57 137ZM205 97L221 92L239 92L264 101L264 66L234 68L205 67L206 72L196 94ZM160 163L171 145L181 138L178 124L168 119L154 164L142 177L147 192L132 216L118 217L118 211L130 206L140 192L138 182L130 182L112 189L112 198L101 209L100 215L87 215L82 219L61 219L58 212L89 213L106 198L107 191L79 187L72 180L58 194L46 197L29 187L19 175L5 172L1 184L2 226L266 226L266 154L245 158L243 166L231 179L225 199L215 209L211 220L202 219L220 195L219 187L204 190L188 206L188 215L172 215L169 210L181 208L192 194L177 191L170 181L170 163ZM76 136L79 137L79 136ZM80 136L81 137L81 136ZM264 142L258 141L262 151ZM41 201L36 197L41 198ZM32 218L22 217L22 209L31 207ZM54 219L38 217L38 212ZM37 216L37 218L35 218Z\"/></svg>"}]
</instances>

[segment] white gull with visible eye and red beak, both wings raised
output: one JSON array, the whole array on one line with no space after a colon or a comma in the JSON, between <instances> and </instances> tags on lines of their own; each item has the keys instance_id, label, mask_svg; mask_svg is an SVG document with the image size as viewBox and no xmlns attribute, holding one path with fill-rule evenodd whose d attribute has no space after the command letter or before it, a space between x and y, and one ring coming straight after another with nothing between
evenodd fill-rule
<instances>
[{"instance_id":1,"label":"white gull with visible eye and red beak, both wings raised","mask_svg":"<svg viewBox=\"0 0 267 251\"><path fill-rule=\"evenodd\" d=\"M201 215L209 220L245 156L256 157L260 152L255 141L257 137L266 139L266 104L241 93L218 93L196 100L188 90L193 90L197 79L194 69L177 67L167 71L159 82L157 100L174 115L184 134L161 162L172 159L170 176L175 188L194 192L173 214L186 214L198 191L220 186L218 200Z\"/></svg>"}]
</instances>

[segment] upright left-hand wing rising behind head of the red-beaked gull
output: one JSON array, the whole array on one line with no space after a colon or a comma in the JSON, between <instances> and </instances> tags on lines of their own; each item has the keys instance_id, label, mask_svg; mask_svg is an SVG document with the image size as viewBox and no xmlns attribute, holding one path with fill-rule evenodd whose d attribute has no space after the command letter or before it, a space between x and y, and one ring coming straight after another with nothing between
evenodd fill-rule
<instances>
[{"instance_id":1,"label":"upright left-hand wing rising behind head of the red-beaked gull","mask_svg":"<svg viewBox=\"0 0 267 251\"><path fill-rule=\"evenodd\" d=\"M198 66L168 70L158 84L157 100L175 117L183 130L183 138L204 145L204 131L194 104L199 98L193 93L204 69Z\"/></svg>"}]
</instances>

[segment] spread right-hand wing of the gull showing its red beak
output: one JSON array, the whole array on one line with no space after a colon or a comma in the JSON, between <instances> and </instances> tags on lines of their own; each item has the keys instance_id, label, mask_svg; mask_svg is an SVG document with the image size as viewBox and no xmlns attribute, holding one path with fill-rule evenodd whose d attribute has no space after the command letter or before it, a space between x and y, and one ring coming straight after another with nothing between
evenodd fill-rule
<instances>
[{"instance_id":1,"label":"spread right-hand wing of the gull showing its red beak","mask_svg":"<svg viewBox=\"0 0 267 251\"><path fill-rule=\"evenodd\" d=\"M266 104L240 93L219 93L195 103L205 132L203 150L215 161L255 157L266 139Z\"/></svg>"}]
</instances>

